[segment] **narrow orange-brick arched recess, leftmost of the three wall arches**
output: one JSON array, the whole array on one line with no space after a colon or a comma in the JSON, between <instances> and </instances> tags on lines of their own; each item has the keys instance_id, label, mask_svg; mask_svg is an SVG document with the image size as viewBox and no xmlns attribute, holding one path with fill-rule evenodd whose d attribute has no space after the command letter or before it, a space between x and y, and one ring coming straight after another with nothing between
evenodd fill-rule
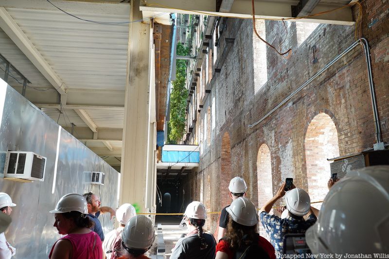
<instances>
[{"instance_id":1,"label":"narrow orange-brick arched recess, leftmost of the three wall arches","mask_svg":"<svg viewBox=\"0 0 389 259\"><path fill-rule=\"evenodd\" d=\"M221 153L221 174L220 174L220 206L221 208L230 204L228 185L231 179L231 144L230 135L224 133L222 138L222 153Z\"/></svg>"}]
</instances>

